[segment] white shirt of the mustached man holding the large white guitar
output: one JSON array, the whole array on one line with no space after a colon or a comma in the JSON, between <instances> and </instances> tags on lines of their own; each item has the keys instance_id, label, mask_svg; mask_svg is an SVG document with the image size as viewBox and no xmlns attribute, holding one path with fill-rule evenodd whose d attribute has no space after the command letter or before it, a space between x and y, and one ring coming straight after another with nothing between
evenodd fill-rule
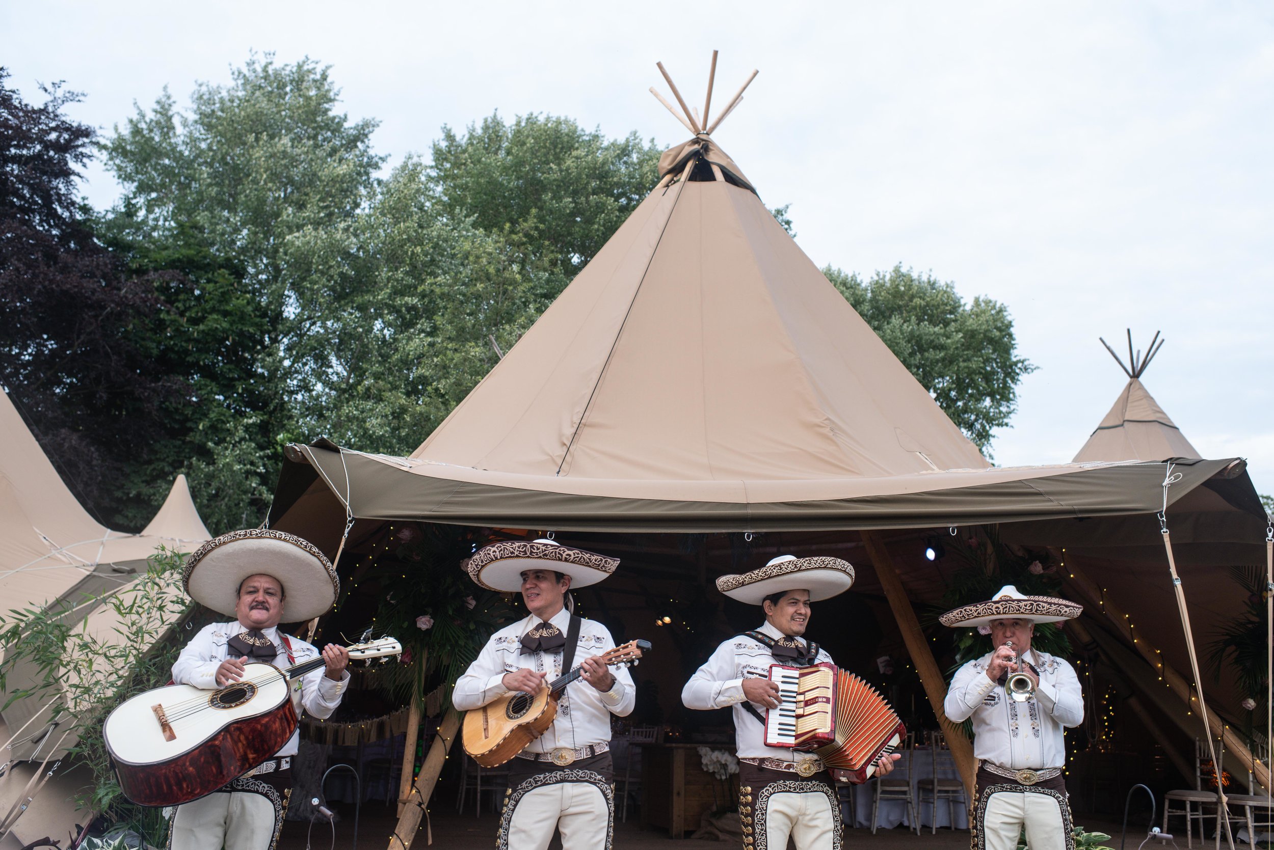
<instances>
[{"instance_id":1,"label":"white shirt of the mustached man holding the large white guitar","mask_svg":"<svg viewBox=\"0 0 1274 850\"><path fill-rule=\"evenodd\" d=\"M177 662L172 665L172 681L177 685L192 685L195 687L201 687L206 690L215 690L219 687L217 685L217 668L220 667L229 657L229 649L225 646L225 641L231 638L247 631L245 626L238 622L214 622L209 626L204 626L194 639L186 644L186 648L181 650L181 655L177 657ZM276 627L262 629L261 634L270 639L274 648L278 650L278 655L274 659L274 665L279 669L285 669L292 667L293 662L288 660L288 653L284 651L283 640L279 638L279 630ZM292 644L292 657L296 659L294 663L299 664L302 662L318 658L320 653L312 645L301 640L299 638L288 636L288 641ZM260 659L251 659L260 660ZM306 714L312 718L330 718L331 713L336 710L340 705L341 693L345 692L345 687L349 683L349 671L341 673L341 678L336 679L327 678L326 668L320 667L316 671L311 671L302 676L298 681L292 682L293 692L292 701L297 705L297 715L299 716L303 709ZM301 699L297 699L296 687L301 686ZM288 743L283 744L275 756L294 756L301 742L301 730L292 733L288 738Z\"/></svg>"}]
</instances>

